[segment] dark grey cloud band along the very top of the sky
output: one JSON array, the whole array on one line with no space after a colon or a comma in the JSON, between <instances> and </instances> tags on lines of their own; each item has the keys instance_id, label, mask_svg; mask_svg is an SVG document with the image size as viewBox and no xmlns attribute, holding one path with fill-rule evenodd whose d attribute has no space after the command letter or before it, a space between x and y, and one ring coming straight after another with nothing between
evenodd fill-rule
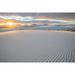
<instances>
[{"instance_id":1,"label":"dark grey cloud band along the very top of the sky","mask_svg":"<svg viewBox=\"0 0 75 75\"><path fill-rule=\"evenodd\" d=\"M0 15L19 15L19 16L49 16L53 18L75 18L75 13L0 13Z\"/></svg>"}]
</instances>

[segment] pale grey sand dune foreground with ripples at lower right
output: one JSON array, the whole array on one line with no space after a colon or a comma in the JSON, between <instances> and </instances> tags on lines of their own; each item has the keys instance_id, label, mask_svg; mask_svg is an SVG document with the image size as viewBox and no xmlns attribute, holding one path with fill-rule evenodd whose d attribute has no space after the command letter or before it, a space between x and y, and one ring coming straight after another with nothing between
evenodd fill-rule
<instances>
[{"instance_id":1,"label":"pale grey sand dune foreground with ripples at lower right","mask_svg":"<svg viewBox=\"0 0 75 75\"><path fill-rule=\"evenodd\" d=\"M74 62L75 32L0 32L0 62Z\"/></svg>"}]
</instances>

